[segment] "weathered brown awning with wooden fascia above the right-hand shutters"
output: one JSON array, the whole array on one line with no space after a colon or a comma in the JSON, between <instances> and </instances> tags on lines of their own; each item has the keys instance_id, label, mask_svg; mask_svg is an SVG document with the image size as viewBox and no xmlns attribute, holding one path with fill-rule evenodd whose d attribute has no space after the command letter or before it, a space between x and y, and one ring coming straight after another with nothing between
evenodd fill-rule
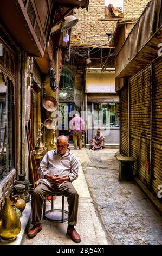
<instances>
[{"instance_id":1,"label":"weathered brown awning with wooden fascia above the right-hand shutters","mask_svg":"<svg viewBox=\"0 0 162 256\"><path fill-rule=\"evenodd\" d=\"M162 2L148 3L116 56L116 78L131 77L158 57L162 42Z\"/></svg>"}]
</instances>

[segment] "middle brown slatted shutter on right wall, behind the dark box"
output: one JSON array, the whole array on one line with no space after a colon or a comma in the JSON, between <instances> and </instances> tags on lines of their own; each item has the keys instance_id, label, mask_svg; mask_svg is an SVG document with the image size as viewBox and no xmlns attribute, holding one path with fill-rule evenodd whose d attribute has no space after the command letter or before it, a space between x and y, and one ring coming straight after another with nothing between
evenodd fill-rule
<instances>
[{"instance_id":1,"label":"middle brown slatted shutter on right wall, behind the dark box","mask_svg":"<svg viewBox=\"0 0 162 256\"><path fill-rule=\"evenodd\" d=\"M149 187L150 175L150 125L151 125L151 66L129 80L129 150L137 158L134 165L139 179Z\"/></svg>"}]
</instances>

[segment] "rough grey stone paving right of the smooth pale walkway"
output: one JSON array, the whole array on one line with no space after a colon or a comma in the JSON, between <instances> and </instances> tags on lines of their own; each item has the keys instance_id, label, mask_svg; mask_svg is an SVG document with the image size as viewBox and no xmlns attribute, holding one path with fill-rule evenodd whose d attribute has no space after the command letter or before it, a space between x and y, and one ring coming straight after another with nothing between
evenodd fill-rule
<instances>
[{"instance_id":1,"label":"rough grey stone paving right of the smooth pale walkway","mask_svg":"<svg viewBox=\"0 0 162 256\"><path fill-rule=\"evenodd\" d=\"M99 218L115 244L162 244L162 217L133 182L119 181L118 149L73 150Z\"/></svg>"}]
</instances>

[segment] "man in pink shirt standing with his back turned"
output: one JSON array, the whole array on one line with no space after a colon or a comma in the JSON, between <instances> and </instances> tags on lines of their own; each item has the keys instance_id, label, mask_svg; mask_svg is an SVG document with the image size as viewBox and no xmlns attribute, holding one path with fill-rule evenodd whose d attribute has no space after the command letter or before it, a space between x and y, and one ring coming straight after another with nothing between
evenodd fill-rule
<instances>
[{"instance_id":1,"label":"man in pink shirt standing with his back turned","mask_svg":"<svg viewBox=\"0 0 162 256\"><path fill-rule=\"evenodd\" d=\"M77 149L77 143L79 143L79 149L82 149L82 132L86 132L85 122L79 114L75 114L69 123L69 132L73 131L74 149Z\"/></svg>"}]
</instances>

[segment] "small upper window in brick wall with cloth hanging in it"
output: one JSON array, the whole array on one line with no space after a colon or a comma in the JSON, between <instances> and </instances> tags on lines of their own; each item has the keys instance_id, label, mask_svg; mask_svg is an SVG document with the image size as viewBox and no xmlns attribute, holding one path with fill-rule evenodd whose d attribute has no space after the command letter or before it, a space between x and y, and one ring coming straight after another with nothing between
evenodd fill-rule
<instances>
[{"instance_id":1,"label":"small upper window in brick wall with cloth hanging in it","mask_svg":"<svg viewBox=\"0 0 162 256\"><path fill-rule=\"evenodd\" d=\"M123 0L105 0L105 18L118 19L124 17Z\"/></svg>"}]
</instances>

